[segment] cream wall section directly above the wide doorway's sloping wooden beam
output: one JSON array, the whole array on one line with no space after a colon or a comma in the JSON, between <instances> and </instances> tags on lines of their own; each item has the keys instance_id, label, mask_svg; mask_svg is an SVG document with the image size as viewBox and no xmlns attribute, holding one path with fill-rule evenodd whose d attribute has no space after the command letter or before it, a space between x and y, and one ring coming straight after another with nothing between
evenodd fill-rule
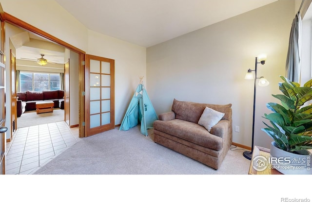
<instances>
[{"instance_id":1,"label":"cream wall section directly above the wide doorway's sloping wooden beam","mask_svg":"<svg viewBox=\"0 0 312 202\"><path fill-rule=\"evenodd\" d=\"M88 29L54 0L0 0L3 11L80 50L88 46Z\"/></svg>"}]
</instances>

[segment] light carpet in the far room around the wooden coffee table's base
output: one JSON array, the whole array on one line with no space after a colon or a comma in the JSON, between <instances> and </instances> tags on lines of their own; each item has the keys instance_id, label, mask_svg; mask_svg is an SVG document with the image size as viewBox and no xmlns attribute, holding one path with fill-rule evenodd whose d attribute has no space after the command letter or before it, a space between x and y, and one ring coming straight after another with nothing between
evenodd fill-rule
<instances>
[{"instance_id":1,"label":"light carpet in the far room around the wooden coffee table's base","mask_svg":"<svg viewBox=\"0 0 312 202\"><path fill-rule=\"evenodd\" d=\"M18 128L53 123L64 120L64 110L54 109L53 112L37 114L36 111L24 112L18 117Z\"/></svg>"}]
</instances>

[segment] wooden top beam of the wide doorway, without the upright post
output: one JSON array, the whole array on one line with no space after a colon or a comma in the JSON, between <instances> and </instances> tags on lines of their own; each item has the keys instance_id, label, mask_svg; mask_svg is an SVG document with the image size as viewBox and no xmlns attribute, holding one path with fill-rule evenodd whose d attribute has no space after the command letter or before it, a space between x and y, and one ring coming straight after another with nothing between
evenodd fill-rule
<instances>
[{"instance_id":1,"label":"wooden top beam of the wide doorway, without the upright post","mask_svg":"<svg viewBox=\"0 0 312 202\"><path fill-rule=\"evenodd\" d=\"M38 35L40 37L43 37L43 38L48 39L50 41L53 41L53 42L55 42L55 43L57 43L57 44L59 44L61 46L64 46L64 47L66 47L66 48L68 48L70 50L73 50L73 51L75 51L77 53L85 54L85 52L83 50L80 50L80 49L78 49L78 48L76 48L76 47L66 43L65 41L62 41L59 38L57 38L57 37L55 37L55 36L53 36L51 34L48 34L48 33L44 32L44 31L42 31L42 30L40 30L40 29L38 29L38 28L28 24L27 22L24 22L24 21L20 20L19 18L16 18L16 17L14 17L14 16L12 16L12 15L10 15L8 13L5 13L5 12L4 12L4 17L5 17L4 21L7 22L7 23L13 24L13 25L15 25L15 26L17 26L19 28L22 28L24 30L30 31L30 32L32 32L32 33L34 33L34 34L36 34L36 35Z\"/></svg>"}]
</instances>

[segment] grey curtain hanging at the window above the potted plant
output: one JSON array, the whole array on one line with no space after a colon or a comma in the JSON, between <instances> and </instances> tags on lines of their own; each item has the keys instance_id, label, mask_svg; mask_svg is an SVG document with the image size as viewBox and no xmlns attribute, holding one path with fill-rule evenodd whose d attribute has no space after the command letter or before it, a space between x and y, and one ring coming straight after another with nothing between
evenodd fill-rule
<instances>
[{"instance_id":1,"label":"grey curtain hanging at the window above the potted plant","mask_svg":"<svg viewBox=\"0 0 312 202\"><path fill-rule=\"evenodd\" d=\"M297 83L300 83L301 72L301 21L302 19L299 11L292 20L292 29L289 37L286 60L286 77L292 82Z\"/></svg>"}]
</instances>

